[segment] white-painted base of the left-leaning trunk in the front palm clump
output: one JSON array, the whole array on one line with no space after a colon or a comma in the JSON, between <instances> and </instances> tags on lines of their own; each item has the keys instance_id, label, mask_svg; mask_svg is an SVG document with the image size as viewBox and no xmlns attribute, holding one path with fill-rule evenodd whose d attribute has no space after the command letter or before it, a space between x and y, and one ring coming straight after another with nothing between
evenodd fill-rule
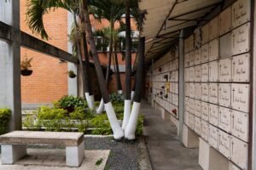
<instances>
[{"instance_id":1,"label":"white-painted base of the left-leaning trunk in the front palm clump","mask_svg":"<svg viewBox=\"0 0 256 170\"><path fill-rule=\"evenodd\" d=\"M113 138L114 139L121 139L124 137L124 131L119 125L119 122L116 118L115 112L113 111L113 105L111 102L108 102L108 104L104 104L105 109L108 115L108 121L110 123L110 126L113 131Z\"/></svg>"}]
</instances>

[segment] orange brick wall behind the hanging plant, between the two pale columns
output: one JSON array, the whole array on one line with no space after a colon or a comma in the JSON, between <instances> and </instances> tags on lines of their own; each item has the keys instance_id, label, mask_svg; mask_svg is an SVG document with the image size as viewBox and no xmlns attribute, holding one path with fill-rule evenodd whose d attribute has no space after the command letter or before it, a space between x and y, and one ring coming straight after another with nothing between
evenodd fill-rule
<instances>
[{"instance_id":1,"label":"orange brick wall behind the hanging plant, between the two pale columns","mask_svg":"<svg viewBox=\"0 0 256 170\"><path fill-rule=\"evenodd\" d=\"M26 0L20 0L20 29L32 34L26 26ZM49 33L48 43L67 50L67 11L58 9L44 16L44 26ZM35 36L35 35L33 35ZM67 94L67 63L45 54L21 48L24 55L32 57L32 76L21 76L22 104L50 103Z\"/></svg>"}]
</instances>

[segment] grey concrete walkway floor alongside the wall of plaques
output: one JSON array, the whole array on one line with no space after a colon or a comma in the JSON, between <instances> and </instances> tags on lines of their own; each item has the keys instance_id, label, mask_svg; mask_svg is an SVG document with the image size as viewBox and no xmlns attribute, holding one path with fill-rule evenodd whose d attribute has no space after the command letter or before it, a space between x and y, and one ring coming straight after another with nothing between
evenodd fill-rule
<instances>
[{"instance_id":1,"label":"grey concrete walkway floor alongside the wall of plaques","mask_svg":"<svg viewBox=\"0 0 256 170\"><path fill-rule=\"evenodd\" d=\"M177 128L164 121L160 111L144 102L144 134L153 170L201 170L198 149L186 149L177 137Z\"/></svg>"}]
</instances>

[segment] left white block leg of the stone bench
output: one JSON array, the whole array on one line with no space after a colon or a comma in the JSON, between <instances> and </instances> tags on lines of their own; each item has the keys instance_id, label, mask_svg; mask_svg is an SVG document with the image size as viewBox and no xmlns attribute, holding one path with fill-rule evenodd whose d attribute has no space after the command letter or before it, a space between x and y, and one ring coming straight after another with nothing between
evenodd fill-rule
<instances>
[{"instance_id":1,"label":"left white block leg of the stone bench","mask_svg":"<svg viewBox=\"0 0 256 170\"><path fill-rule=\"evenodd\" d=\"M14 164L26 156L26 144L2 144L2 164Z\"/></svg>"}]
</instances>

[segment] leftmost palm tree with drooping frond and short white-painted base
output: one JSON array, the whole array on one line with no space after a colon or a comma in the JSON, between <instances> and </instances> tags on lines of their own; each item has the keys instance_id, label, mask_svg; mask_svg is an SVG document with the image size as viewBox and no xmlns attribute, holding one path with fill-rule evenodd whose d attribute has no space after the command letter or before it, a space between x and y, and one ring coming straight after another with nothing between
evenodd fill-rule
<instances>
[{"instance_id":1,"label":"leftmost palm tree with drooping frond and short white-painted base","mask_svg":"<svg viewBox=\"0 0 256 170\"><path fill-rule=\"evenodd\" d=\"M43 16L44 14L49 13L51 9L55 10L55 8L64 8L67 11L71 12L73 14L74 23L73 26L73 46L74 49L77 50L76 53L78 53L79 57L79 63L81 67L81 73L82 73L82 80L83 80L83 88L85 92L85 98L88 102L88 105L91 110L95 110L95 102L94 102L94 96L92 94L92 89L90 88L89 83L89 59L88 59L88 51L87 51L87 43L85 39L85 32L82 31L82 44L84 45L83 49L80 48L81 39L79 38L79 26L76 20L76 17L79 14L79 0L29 0L27 3L27 25L32 30L32 32L35 32L37 34L40 34L43 39L48 40L49 36L47 32L44 29L44 21ZM72 36L70 36L72 37ZM83 64L82 59L82 51L84 52L84 58L85 58L85 65ZM90 95L87 95L87 94Z\"/></svg>"}]
</instances>

